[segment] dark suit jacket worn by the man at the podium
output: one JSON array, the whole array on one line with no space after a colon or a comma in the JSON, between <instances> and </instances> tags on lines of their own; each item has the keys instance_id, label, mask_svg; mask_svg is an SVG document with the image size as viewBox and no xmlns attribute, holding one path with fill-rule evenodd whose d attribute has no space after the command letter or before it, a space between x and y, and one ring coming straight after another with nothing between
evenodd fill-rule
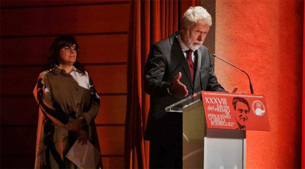
<instances>
[{"instance_id":1,"label":"dark suit jacket worn by the man at the podium","mask_svg":"<svg viewBox=\"0 0 305 169\"><path fill-rule=\"evenodd\" d=\"M145 131L145 139L150 140L156 132L154 121L164 117L165 107L178 102L185 97L170 95L167 91L169 83L179 72L180 82L189 91L189 96L200 91L225 92L218 83L206 47L201 46L195 51L194 82L191 79L190 68L186 57L176 38L180 32L175 32L169 38L152 45L145 65L145 92L150 95L150 109ZM201 78L201 80L200 80Z\"/></svg>"}]
</instances>

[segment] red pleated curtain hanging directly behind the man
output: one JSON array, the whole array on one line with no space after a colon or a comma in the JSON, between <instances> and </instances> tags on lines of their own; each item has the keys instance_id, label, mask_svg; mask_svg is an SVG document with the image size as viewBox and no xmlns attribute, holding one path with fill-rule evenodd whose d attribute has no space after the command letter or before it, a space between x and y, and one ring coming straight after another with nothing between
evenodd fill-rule
<instances>
[{"instance_id":1,"label":"red pleated curtain hanging directly behind the man","mask_svg":"<svg viewBox=\"0 0 305 169\"><path fill-rule=\"evenodd\" d=\"M125 168L149 167L149 143L144 131L149 96L144 92L143 72L150 46L178 30L181 16L199 1L130 1L128 93L125 127Z\"/></svg>"}]
</instances>

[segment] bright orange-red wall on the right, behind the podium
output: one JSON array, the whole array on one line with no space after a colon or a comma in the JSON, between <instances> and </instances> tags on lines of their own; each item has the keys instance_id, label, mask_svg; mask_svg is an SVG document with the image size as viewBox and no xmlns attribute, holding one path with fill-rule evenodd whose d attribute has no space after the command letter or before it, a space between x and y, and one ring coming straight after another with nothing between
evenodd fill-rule
<instances>
[{"instance_id":1,"label":"bright orange-red wall on the right, behind the podium","mask_svg":"<svg viewBox=\"0 0 305 169\"><path fill-rule=\"evenodd\" d=\"M247 131L247 168L300 168L302 34L303 1L216 1L216 54L268 104L271 131ZM245 74L215 69L226 90L250 93Z\"/></svg>"}]
</instances>

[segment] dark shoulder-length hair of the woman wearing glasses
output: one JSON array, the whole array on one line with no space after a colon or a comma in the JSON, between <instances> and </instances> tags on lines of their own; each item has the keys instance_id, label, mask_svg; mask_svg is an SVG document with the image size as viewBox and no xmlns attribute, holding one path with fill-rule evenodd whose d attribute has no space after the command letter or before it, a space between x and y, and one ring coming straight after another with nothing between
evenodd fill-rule
<instances>
[{"instance_id":1,"label":"dark shoulder-length hair of the woman wearing glasses","mask_svg":"<svg viewBox=\"0 0 305 169\"><path fill-rule=\"evenodd\" d=\"M60 35L58 36L54 42L52 43L50 47L51 55L48 57L48 63L42 67L41 71L49 70L54 68L56 65L59 65L59 50L64 46L72 46L76 45L77 48L79 48L78 43L76 42L76 39L73 36L70 35ZM77 59L79 58L79 53L77 52ZM75 68L80 70L82 73L85 72L84 66L82 63L76 62L73 64Z\"/></svg>"}]
</instances>

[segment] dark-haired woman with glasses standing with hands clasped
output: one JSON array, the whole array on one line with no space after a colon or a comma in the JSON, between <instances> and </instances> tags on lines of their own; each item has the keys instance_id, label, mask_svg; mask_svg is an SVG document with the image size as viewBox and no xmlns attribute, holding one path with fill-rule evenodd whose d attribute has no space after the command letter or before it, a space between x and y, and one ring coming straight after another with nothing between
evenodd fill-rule
<instances>
[{"instance_id":1,"label":"dark-haired woman with glasses standing with hands clasped","mask_svg":"<svg viewBox=\"0 0 305 169\"><path fill-rule=\"evenodd\" d=\"M88 72L77 62L78 50L74 37L57 37L39 74L34 89L39 104L35 168L76 168L66 157L76 141L90 141L100 150L94 123L100 100ZM92 152L96 168L102 167L99 155Z\"/></svg>"}]
</instances>

